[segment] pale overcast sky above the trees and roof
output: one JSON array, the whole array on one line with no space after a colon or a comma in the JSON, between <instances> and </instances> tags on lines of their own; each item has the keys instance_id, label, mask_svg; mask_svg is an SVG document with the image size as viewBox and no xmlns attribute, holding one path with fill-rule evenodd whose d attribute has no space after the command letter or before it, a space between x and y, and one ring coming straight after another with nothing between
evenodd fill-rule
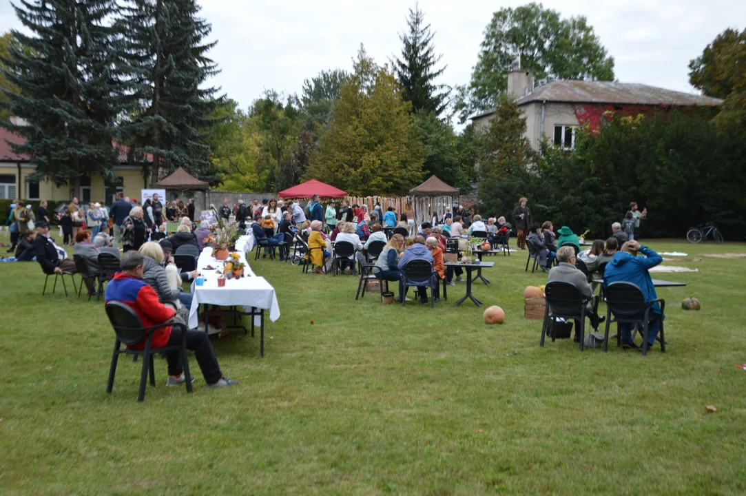
<instances>
[{"instance_id":1,"label":"pale overcast sky above the trees and roof","mask_svg":"<svg viewBox=\"0 0 746 496\"><path fill-rule=\"evenodd\" d=\"M300 93L305 78L325 69L351 69L360 43L377 63L398 54L414 1L200 0L218 45L211 55L222 73L213 84L241 107L264 90ZM525 1L422 0L436 31L436 50L448 68L442 83L466 84L477 62L492 13ZM726 28L745 28L746 1L737 0L548 0L563 18L583 15L615 60L624 83L684 92L687 65ZM741 22L739 25L737 22ZM18 28L10 2L0 0L0 33Z\"/></svg>"}]
</instances>

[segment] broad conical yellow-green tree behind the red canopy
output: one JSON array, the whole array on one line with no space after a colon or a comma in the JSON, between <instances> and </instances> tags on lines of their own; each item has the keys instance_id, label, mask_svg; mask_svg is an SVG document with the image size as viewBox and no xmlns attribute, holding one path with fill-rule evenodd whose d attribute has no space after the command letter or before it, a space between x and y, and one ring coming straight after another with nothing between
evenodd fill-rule
<instances>
[{"instance_id":1,"label":"broad conical yellow-green tree behind the red canopy","mask_svg":"<svg viewBox=\"0 0 746 496\"><path fill-rule=\"evenodd\" d=\"M422 178L424 148L394 76L360 48L306 177L352 195L401 195Z\"/></svg>"}]
</instances>

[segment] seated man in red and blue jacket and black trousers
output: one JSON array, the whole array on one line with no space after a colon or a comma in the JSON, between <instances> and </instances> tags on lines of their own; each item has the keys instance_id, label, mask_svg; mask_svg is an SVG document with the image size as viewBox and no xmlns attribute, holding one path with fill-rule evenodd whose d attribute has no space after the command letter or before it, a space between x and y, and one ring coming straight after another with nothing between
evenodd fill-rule
<instances>
[{"instance_id":1,"label":"seated man in red and blue jacket and black trousers","mask_svg":"<svg viewBox=\"0 0 746 496\"><path fill-rule=\"evenodd\" d=\"M145 271L144 255L139 251L128 251L122 254L120 266L122 271L117 272L114 279L106 286L104 300L107 303L121 301L127 304L137 313L145 327L163 324L175 317L175 310L160 303L156 292L142 280ZM157 348L181 343L181 333L183 331L180 328L160 327L153 332L155 335L151 341L151 346L156 351ZM135 350L142 350L144 347L144 340L136 345L128 345L128 348ZM195 352L195 358L208 388L236 386L238 384L238 381L228 379L220 371L218 360L215 357L213 346L210 345L207 333L201 330L187 330L186 349ZM166 362L169 363L169 379L166 381L166 386L178 386L186 382L187 377L184 376L181 353L178 350L166 352ZM193 378L189 377L188 380L193 380Z\"/></svg>"}]
</instances>

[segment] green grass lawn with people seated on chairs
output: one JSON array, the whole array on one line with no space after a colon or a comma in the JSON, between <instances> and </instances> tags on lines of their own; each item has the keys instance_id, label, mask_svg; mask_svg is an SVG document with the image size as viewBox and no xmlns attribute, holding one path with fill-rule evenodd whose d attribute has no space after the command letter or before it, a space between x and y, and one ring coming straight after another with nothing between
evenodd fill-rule
<instances>
[{"instance_id":1,"label":"green grass lawn with people seated on chairs","mask_svg":"<svg viewBox=\"0 0 746 496\"><path fill-rule=\"evenodd\" d=\"M7 234L0 237L7 242ZM656 251L746 245L652 242ZM523 317L525 252L474 284L507 313L447 302L354 300L357 278L252 264L282 316L258 337L213 342L240 386L158 386L120 360L103 305L41 296L37 263L0 264L0 493L4 495L486 495L746 493L746 259L703 258L667 302L668 351L539 348ZM464 285L449 287L451 302ZM700 312L681 310L695 294ZM605 309L604 309L605 311ZM269 319L268 319L269 321ZM706 405L715 405L707 413Z\"/></svg>"}]
</instances>

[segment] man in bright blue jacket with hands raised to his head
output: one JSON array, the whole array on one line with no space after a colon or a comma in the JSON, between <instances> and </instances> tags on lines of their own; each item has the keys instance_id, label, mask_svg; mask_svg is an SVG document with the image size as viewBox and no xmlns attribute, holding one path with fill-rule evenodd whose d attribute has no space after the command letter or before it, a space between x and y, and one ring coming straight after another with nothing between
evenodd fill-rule
<instances>
[{"instance_id":1,"label":"man in bright blue jacket with hands raised to his head","mask_svg":"<svg viewBox=\"0 0 746 496\"><path fill-rule=\"evenodd\" d=\"M638 257L638 253L645 255L645 257ZM628 241L621 246L621 250L617 252L612 261L609 262L609 265L606 266L604 287L610 283L622 281L633 283L639 289L642 289L645 301L655 300L658 296L656 295L653 279L648 269L657 266L662 261L662 257L651 250L651 248L644 245L641 246L635 240ZM653 318L650 327L648 327L648 349L652 348L653 344L655 344L656 336L658 336L658 331L660 330L660 305L656 302L651 308L655 318ZM632 324L619 324L619 332L621 332L622 348L625 350L638 349L638 346L632 341Z\"/></svg>"}]
</instances>

